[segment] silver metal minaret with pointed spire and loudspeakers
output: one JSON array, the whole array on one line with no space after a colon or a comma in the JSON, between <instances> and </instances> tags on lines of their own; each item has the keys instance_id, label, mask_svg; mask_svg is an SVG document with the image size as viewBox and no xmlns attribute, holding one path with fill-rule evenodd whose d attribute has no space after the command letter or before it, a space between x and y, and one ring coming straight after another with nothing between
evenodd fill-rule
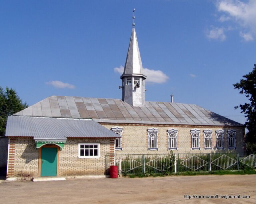
<instances>
[{"instance_id":1,"label":"silver metal minaret with pointed spire and loudspeakers","mask_svg":"<svg viewBox=\"0 0 256 204\"><path fill-rule=\"evenodd\" d=\"M140 51L135 32L133 9L133 24L130 45L124 65L122 79L122 100L132 106L143 106L145 104L145 79L143 74Z\"/></svg>"}]
</instances>

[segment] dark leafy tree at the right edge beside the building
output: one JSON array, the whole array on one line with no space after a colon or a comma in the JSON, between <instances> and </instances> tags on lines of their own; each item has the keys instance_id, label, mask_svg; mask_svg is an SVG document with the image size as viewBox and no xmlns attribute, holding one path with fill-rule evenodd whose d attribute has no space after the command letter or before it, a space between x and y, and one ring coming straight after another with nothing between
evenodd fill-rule
<instances>
[{"instance_id":1,"label":"dark leafy tree at the right edge beside the building","mask_svg":"<svg viewBox=\"0 0 256 204\"><path fill-rule=\"evenodd\" d=\"M246 134L246 148L248 152L256 152L256 64L251 72L243 75L240 83L233 84L235 89L249 99L249 103L240 104L241 113L247 117L245 122L248 132ZM237 109L238 106L235 107Z\"/></svg>"}]
</instances>

